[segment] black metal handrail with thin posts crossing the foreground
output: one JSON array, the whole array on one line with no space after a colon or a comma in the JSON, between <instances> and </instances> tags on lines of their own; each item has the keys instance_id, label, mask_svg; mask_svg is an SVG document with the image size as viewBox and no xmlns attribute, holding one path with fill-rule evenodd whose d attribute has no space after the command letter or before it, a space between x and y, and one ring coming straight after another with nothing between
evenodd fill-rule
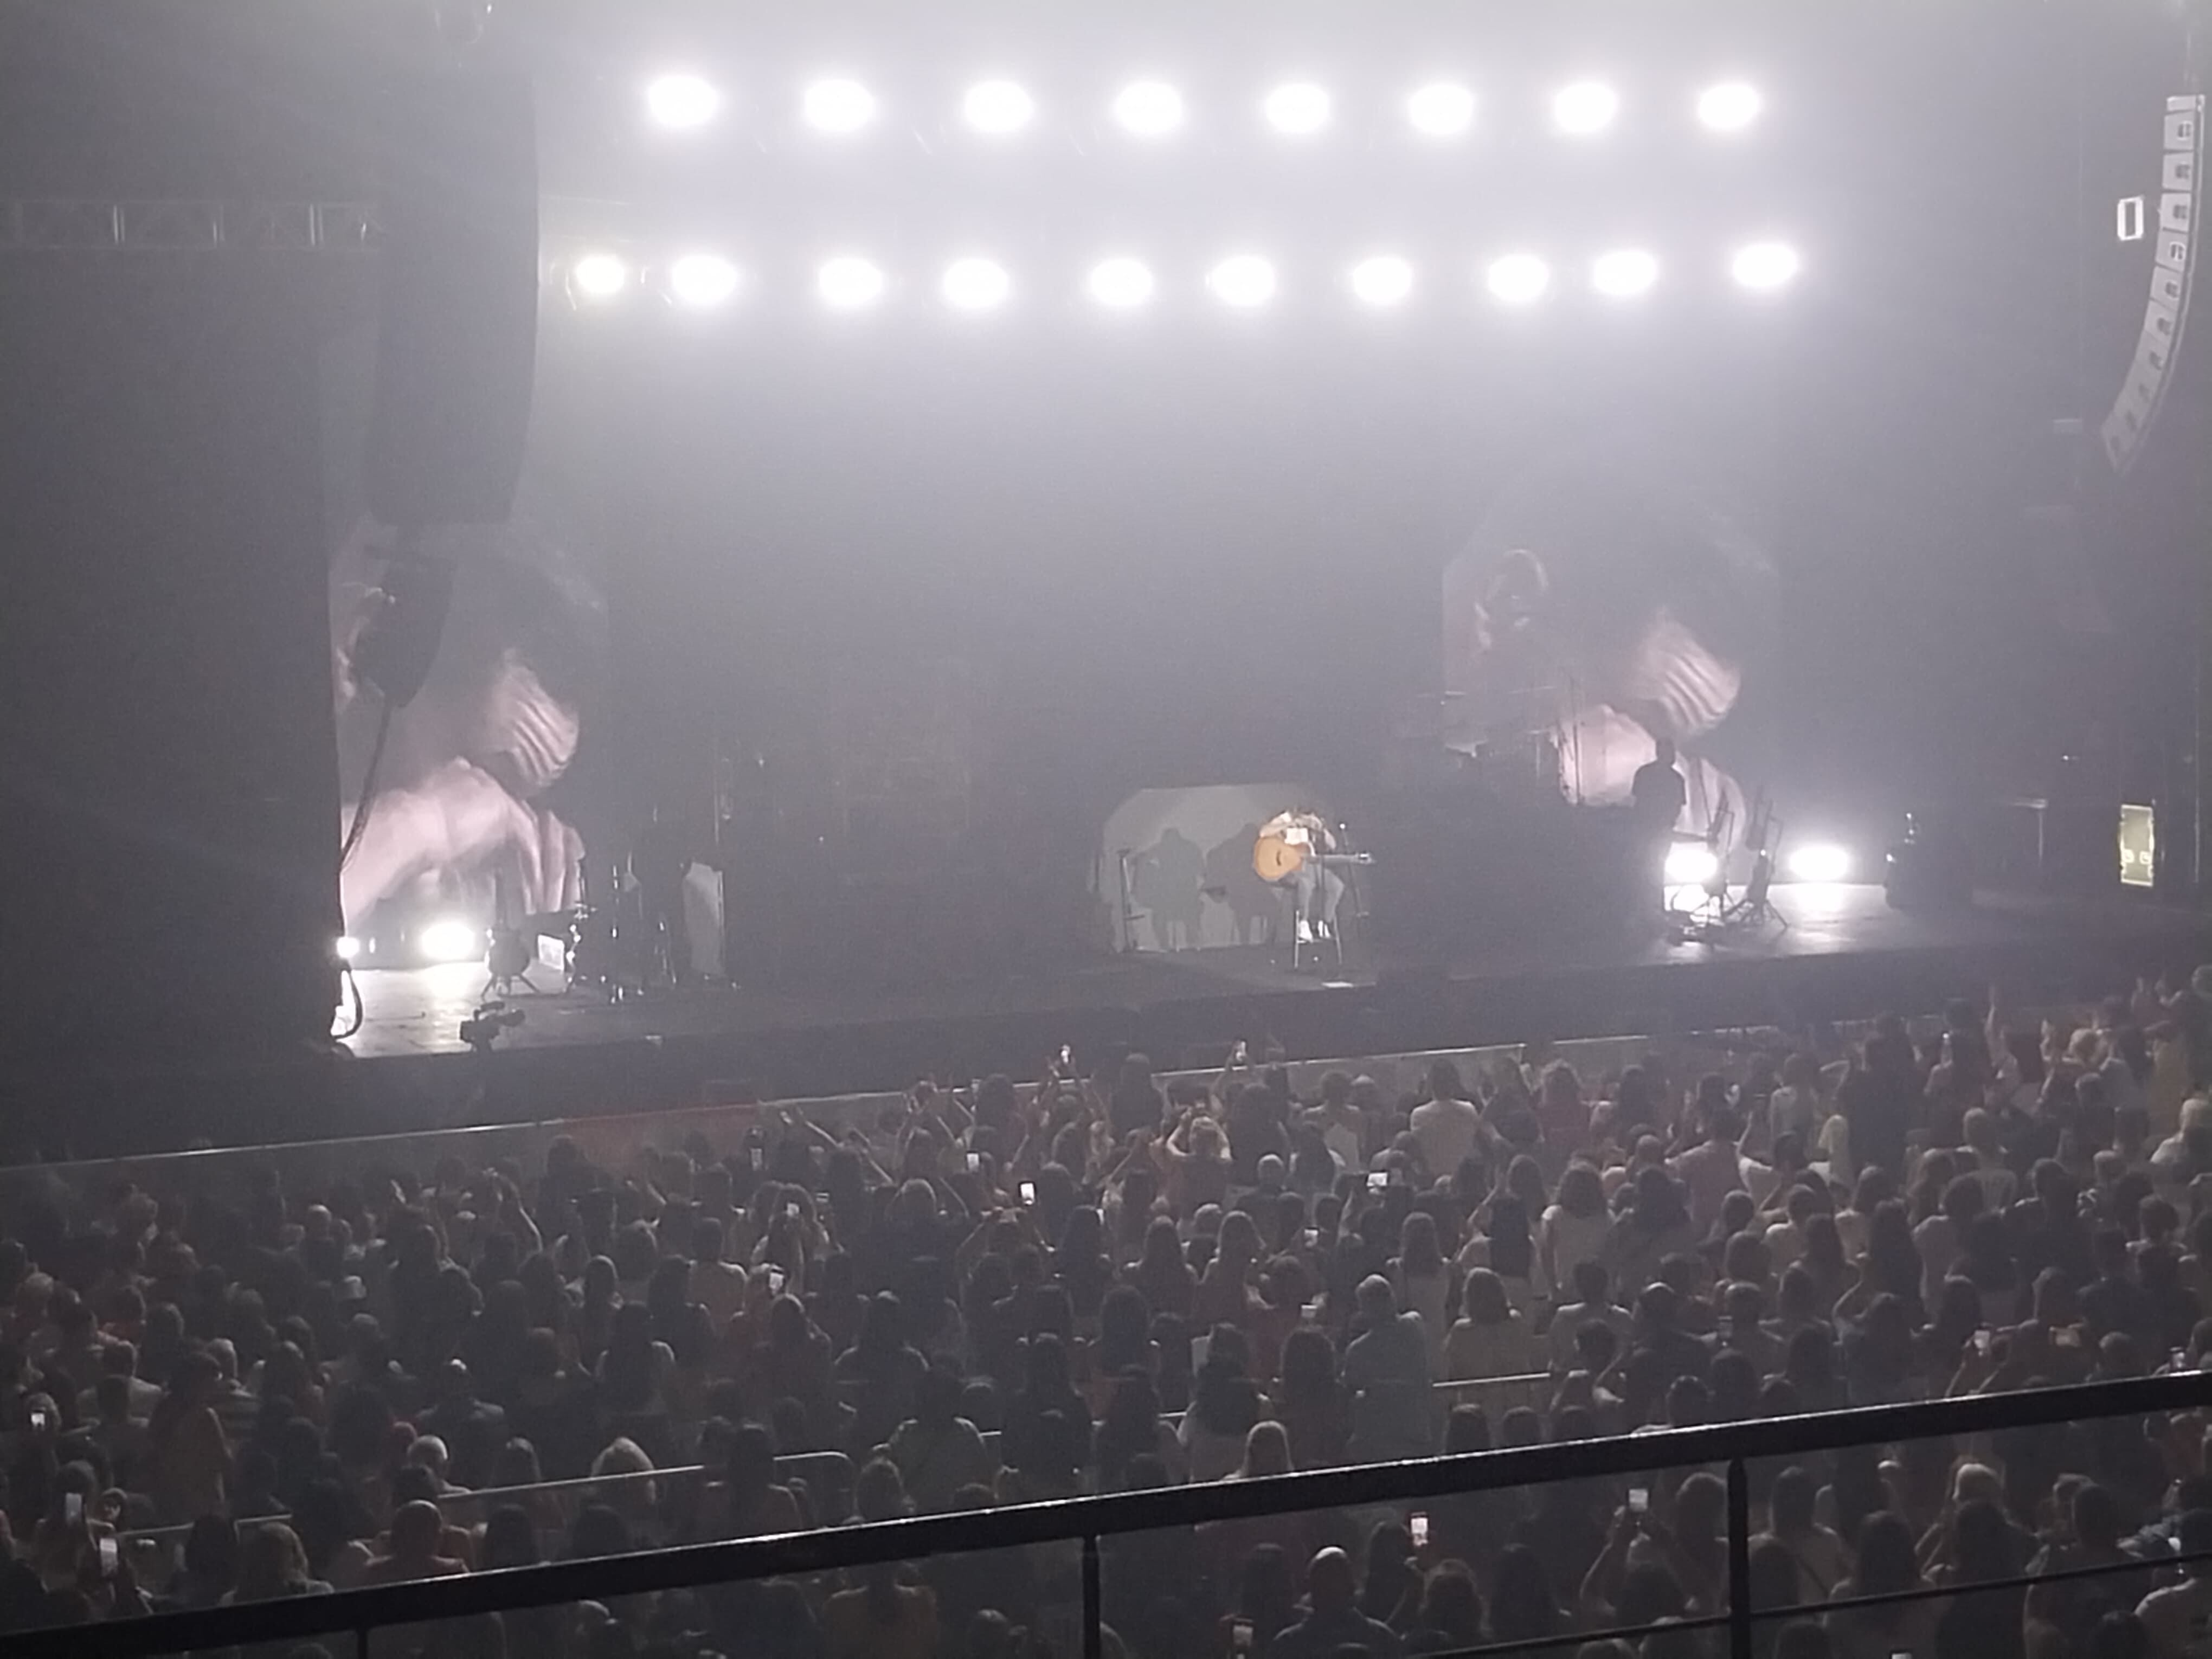
<instances>
[{"instance_id":1,"label":"black metal handrail with thin posts crossing the foreground","mask_svg":"<svg viewBox=\"0 0 2212 1659\"><path fill-rule=\"evenodd\" d=\"M701 1584L827 1573L854 1566L911 1562L929 1555L1082 1542L1084 1652L1097 1659L1099 1540L1124 1533L1259 1520L1321 1509L1402 1504L1500 1486L1537 1486L1562 1480L1608 1480L1692 1464L1728 1467L1730 1632L1732 1652L1750 1655L1750 1482L1745 1462L1794 1458L1843 1447L1938 1440L1947 1436L2042 1429L2057 1422L2194 1411L2212 1405L2212 1374L2130 1378L2022 1394L1973 1394L1951 1400L1858 1407L1798 1418L1761 1418L1703 1429L1663 1429L1648 1436L1571 1440L1511 1451L1420 1458L1396 1464L1325 1469L1303 1475L1230 1480L1066 1498L1009 1509L927 1515L916 1520L836 1526L723 1544L688 1544L639 1555L560 1562L451 1579L389 1584L341 1595L257 1601L248 1606L161 1613L95 1626L0 1637L0 1659L153 1659L208 1648L265 1641L305 1641L352 1632L367 1655L369 1632L400 1624L469 1619L487 1613L611 1601ZM1971 1586L1969 1586L1971 1588Z\"/></svg>"}]
</instances>

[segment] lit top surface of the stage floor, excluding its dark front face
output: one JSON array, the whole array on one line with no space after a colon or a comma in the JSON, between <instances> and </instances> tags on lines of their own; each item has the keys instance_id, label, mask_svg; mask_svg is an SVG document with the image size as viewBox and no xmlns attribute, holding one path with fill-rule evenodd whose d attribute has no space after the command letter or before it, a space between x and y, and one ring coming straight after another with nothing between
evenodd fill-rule
<instances>
[{"instance_id":1,"label":"lit top surface of the stage floor, excluding its dark front face","mask_svg":"<svg viewBox=\"0 0 2212 1659\"><path fill-rule=\"evenodd\" d=\"M2203 920L2152 905L2081 905L2057 900L1984 898L1978 907L1909 916L1887 907L1880 887L1778 887L1776 909L1790 918L1787 929L1756 938L1732 938L1723 945L1674 942L1666 936L1619 938L1590 945L1537 945L1526 940L1473 942L1442 969L1458 987L1553 987L1562 998L1577 982L1650 980L1652 971L1674 978L1710 978L1714 969L1756 964L1809 964L1820 958L1887 960L1933 956L1947 971L1986 962L1991 973L2028 978L2064 975L2064 964L2079 953L2088 967L2121 960L2130 951L2143 967L2174 967L2174 951L2188 956L2203 938ZM2119 956L2115 956L2115 951ZM1933 964L1931 964L1933 967ZM1672 969L1681 969L1677 975ZM1703 969L1705 973L1699 973ZM1183 951L1113 956L1071 962L1055 971L1020 973L989 982L947 982L927 989L854 989L854 991L750 991L734 987L686 987L644 1000L606 1004L591 995L555 993L557 975L540 969L535 980L549 987L542 995L518 995L511 1006L524 1011L524 1024L500 1040L502 1051L555 1048L568 1044L633 1042L745 1042L772 1035L823 1031L863 1031L872 1026L914 1026L947 1022L953 1026L1006 1020L1033 1024L1051 1015L1079 1018L1086 1026L1102 1013L1141 1015L1168 1004L1234 1002L1254 998L1338 998L1371 991L1371 971L1294 973L1267 949ZM1431 984L1438 978L1431 969ZM372 971L358 975L363 1000L361 1031L347 1048L363 1060L427 1057L462 1053L460 1024L484 991L480 964L427 967L407 971ZM1953 987L1978 993L1982 982ZM2026 987L2022 987L2026 989ZM1511 998L1520 1002L1522 998ZM1874 1009L1818 1011L1871 1013ZM1287 1011L1285 1011L1287 1018ZM1573 1011L1557 1011L1546 1024L1551 1035L1595 1035L1568 1031L1577 1024Z\"/></svg>"}]
</instances>

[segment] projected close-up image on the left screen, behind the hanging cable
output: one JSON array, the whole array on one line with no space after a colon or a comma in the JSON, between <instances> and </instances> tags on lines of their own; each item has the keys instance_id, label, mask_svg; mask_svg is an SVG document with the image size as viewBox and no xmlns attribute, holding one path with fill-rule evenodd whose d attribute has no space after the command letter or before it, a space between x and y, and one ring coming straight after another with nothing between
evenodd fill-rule
<instances>
[{"instance_id":1,"label":"projected close-up image on the left screen, behind the hanging cable","mask_svg":"<svg viewBox=\"0 0 2212 1659\"><path fill-rule=\"evenodd\" d=\"M469 898L491 911L549 914L577 898L584 845L544 796L568 772L599 672L599 602L544 549L507 531L465 533L438 659L398 710L376 801L341 874L349 927L385 900ZM352 672L352 646L380 571L363 526L332 562L332 681L345 823L376 734L376 697Z\"/></svg>"}]
</instances>

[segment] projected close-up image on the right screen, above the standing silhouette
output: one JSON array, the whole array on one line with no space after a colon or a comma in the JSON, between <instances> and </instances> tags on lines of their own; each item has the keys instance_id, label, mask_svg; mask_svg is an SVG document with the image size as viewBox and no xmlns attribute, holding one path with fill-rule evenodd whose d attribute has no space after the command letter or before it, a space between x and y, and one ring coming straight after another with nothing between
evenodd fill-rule
<instances>
[{"instance_id":1,"label":"projected close-up image on the right screen, above the standing silhouette","mask_svg":"<svg viewBox=\"0 0 2212 1659\"><path fill-rule=\"evenodd\" d=\"M1681 750L1686 827L1741 790L1699 743L1736 708L1772 626L1774 571L1719 511L1617 456L1540 469L1444 568L1447 741L1557 743L1586 801L1628 796L1659 739Z\"/></svg>"}]
</instances>

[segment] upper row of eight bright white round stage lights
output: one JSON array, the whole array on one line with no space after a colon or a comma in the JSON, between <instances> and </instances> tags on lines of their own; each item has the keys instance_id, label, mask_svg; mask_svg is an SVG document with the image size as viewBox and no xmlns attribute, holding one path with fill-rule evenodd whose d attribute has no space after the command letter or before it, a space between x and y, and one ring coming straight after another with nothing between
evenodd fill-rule
<instances>
[{"instance_id":1,"label":"upper row of eight bright white round stage lights","mask_svg":"<svg viewBox=\"0 0 2212 1659\"><path fill-rule=\"evenodd\" d=\"M659 75L646 86L648 117L668 131L699 131L723 113L723 93L710 80L690 73ZM832 75L799 88L799 119L825 137L858 137L876 126L885 111L865 82ZM978 80L960 93L960 122L987 139L1011 139L1035 126L1040 106L1015 80ZM1710 133L1743 133L1763 108L1759 88L1741 80L1723 80L1688 100L1686 113ZM1411 88L1391 119L1425 139L1458 139L1475 131L1480 100L1462 82L1438 80ZM1604 80L1577 80L1559 86L1548 100L1555 131L1566 137L1597 137L1619 122L1621 93ZM1166 80L1135 80L1104 102L1106 119L1133 139L1168 139L1190 122L1183 91ZM1267 88L1252 102L1252 115L1287 139L1318 139L1338 124L1336 95L1321 82L1292 80Z\"/></svg>"}]
</instances>

